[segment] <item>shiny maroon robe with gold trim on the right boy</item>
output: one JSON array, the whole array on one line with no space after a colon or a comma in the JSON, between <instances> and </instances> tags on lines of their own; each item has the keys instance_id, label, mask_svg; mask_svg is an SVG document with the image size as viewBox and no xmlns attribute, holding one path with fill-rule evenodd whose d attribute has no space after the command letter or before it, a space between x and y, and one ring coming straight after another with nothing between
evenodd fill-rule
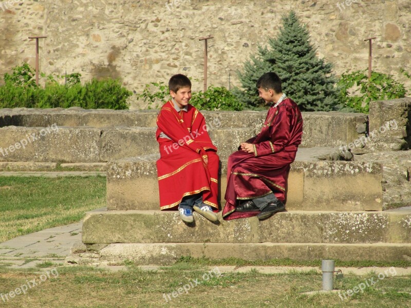
<instances>
[{"instance_id":1,"label":"shiny maroon robe with gold trim on the right boy","mask_svg":"<svg viewBox=\"0 0 411 308\"><path fill-rule=\"evenodd\" d=\"M303 118L298 106L285 99L271 107L259 134L246 142L254 153L238 150L230 155L227 165L225 220L257 215L258 211L235 211L237 200L274 195L285 202L287 177L303 134Z\"/></svg>"}]
</instances>

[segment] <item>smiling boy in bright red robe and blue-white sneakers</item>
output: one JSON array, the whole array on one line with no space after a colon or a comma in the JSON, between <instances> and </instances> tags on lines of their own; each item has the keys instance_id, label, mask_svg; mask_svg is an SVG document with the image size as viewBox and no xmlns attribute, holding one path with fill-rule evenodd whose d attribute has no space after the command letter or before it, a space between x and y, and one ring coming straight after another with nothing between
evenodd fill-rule
<instances>
[{"instance_id":1,"label":"smiling boy in bright red robe and blue-white sneakers","mask_svg":"<svg viewBox=\"0 0 411 308\"><path fill-rule=\"evenodd\" d=\"M211 142L203 115L189 104L191 82L177 74L169 81L172 100L157 117L156 139L160 209L177 209L185 222L193 222L193 209L211 221L218 211L217 148Z\"/></svg>"}]
</instances>

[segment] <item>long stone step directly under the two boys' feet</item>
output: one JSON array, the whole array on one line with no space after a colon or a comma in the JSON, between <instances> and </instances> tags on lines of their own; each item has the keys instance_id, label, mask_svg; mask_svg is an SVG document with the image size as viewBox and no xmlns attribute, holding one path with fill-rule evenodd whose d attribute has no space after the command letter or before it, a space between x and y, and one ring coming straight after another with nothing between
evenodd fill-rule
<instances>
[{"instance_id":1,"label":"long stone step directly under the two boys' feet","mask_svg":"<svg viewBox=\"0 0 411 308\"><path fill-rule=\"evenodd\" d=\"M212 223L194 213L184 223L178 211L89 211L83 220L85 244L111 243L317 243L411 244L411 208L403 211L284 211ZM411 254L409 255L411 256Z\"/></svg>"}]
</instances>

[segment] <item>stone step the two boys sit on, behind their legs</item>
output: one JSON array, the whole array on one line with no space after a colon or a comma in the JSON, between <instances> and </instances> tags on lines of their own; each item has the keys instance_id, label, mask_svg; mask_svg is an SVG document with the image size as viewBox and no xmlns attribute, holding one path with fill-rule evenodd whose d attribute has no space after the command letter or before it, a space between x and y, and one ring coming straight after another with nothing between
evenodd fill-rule
<instances>
[{"instance_id":1,"label":"stone step the two boys sit on, behind their legs","mask_svg":"<svg viewBox=\"0 0 411 308\"><path fill-rule=\"evenodd\" d=\"M310 159L298 149L302 159ZM158 155L107 164L108 210L157 210ZM227 186L227 161L221 160L218 198ZM382 165L375 162L295 161L288 177L288 210L382 210ZM222 203L221 203L222 202Z\"/></svg>"}]
</instances>

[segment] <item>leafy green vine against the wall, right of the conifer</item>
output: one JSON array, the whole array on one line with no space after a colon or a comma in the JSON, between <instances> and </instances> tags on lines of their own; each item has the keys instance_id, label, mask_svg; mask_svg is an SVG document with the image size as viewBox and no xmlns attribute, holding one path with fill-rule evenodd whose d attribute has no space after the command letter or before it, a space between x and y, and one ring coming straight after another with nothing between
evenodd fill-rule
<instances>
[{"instance_id":1,"label":"leafy green vine against the wall, right of the conifer","mask_svg":"<svg viewBox=\"0 0 411 308\"><path fill-rule=\"evenodd\" d=\"M365 113L368 112L371 101L399 99L407 93L403 84L387 74L371 72L371 79L368 81L367 70L342 74L338 87L343 107Z\"/></svg>"}]
</instances>

